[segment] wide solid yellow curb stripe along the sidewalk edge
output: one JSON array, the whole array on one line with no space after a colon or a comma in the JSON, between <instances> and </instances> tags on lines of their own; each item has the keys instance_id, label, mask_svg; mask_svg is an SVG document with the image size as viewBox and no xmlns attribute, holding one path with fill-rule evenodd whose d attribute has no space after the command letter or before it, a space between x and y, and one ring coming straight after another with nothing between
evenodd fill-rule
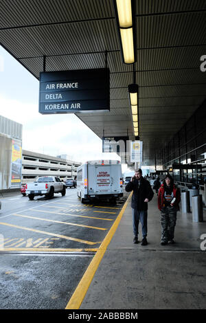
<instances>
[{"instance_id":1,"label":"wide solid yellow curb stripe along the sidewalk edge","mask_svg":"<svg viewBox=\"0 0 206 323\"><path fill-rule=\"evenodd\" d=\"M84 296L87 293L87 290L89 289L89 285L91 284L91 281L93 280L93 276L95 275L95 271L98 269L98 266L100 265L100 262L104 256L104 253L106 252L106 249L111 242L111 239L113 238L113 235L115 234L115 231L117 230L117 227L119 225L120 220L122 219L122 215L124 214L124 211L126 209L126 206L128 205L128 201L130 200L130 197L132 196L132 193L130 193L128 199L126 200L126 203L124 203L124 206L122 210L119 212L119 215L117 216L117 219L113 223L113 226L111 227L111 230L109 230L108 234L104 238L104 241L102 241L98 252L95 254L93 259L91 260L91 263L87 270L84 273L84 276L80 280L78 287L74 291L73 295L71 296L67 307L65 309L79 309L80 305L82 304L82 300L84 299Z\"/></svg>"}]
</instances>

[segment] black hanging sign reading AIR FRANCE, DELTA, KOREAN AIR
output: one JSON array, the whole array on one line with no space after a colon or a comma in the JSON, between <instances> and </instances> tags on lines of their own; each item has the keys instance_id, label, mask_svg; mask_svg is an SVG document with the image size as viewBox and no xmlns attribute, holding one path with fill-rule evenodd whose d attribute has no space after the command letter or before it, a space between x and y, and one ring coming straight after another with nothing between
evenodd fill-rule
<instances>
[{"instance_id":1,"label":"black hanging sign reading AIR FRANCE, DELTA, KOREAN AIR","mask_svg":"<svg viewBox=\"0 0 206 323\"><path fill-rule=\"evenodd\" d=\"M41 72L38 112L54 114L109 110L109 69Z\"/></svg>"}]
</instances>

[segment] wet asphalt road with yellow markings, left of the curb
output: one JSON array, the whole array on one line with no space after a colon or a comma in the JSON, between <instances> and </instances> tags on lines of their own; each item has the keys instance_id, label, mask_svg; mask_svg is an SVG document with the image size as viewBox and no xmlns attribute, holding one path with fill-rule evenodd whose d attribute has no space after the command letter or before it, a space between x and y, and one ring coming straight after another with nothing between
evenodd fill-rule
<instances>
[{"instance_id":1,"label":"wet asphalt road with yellow markings, left of the curb","mask_svg":"<svg viewBox=\"0 0 206 323\"><path fill-rule=\"evenodd\" d=\"M1 199L0 309L65 309L125 199L82 204L76 189Z\"/></svg>"}]
</instances>

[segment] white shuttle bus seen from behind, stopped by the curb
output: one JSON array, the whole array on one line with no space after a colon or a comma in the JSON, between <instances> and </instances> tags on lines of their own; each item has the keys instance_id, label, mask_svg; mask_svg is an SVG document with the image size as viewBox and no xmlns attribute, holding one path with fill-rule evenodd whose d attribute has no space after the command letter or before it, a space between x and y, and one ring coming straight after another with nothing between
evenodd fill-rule
<instances>
[{"instance_id":1,"label":"white shuttle bus seen from behind, stopped by the curb","mask_svg":"<svg viewBox=\"0 0 206 323\"><path fill-rule=\"evenodd\" d=\"M123 196L122 168L119 160L91 160L78 167L78 197L116 200Z\"/></svg>"}]
</instances>

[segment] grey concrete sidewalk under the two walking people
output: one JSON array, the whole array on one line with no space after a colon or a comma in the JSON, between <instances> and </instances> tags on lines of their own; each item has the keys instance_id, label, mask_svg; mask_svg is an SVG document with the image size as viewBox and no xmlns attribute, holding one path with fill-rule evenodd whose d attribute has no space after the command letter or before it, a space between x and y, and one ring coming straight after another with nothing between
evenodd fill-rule
<instances>
[{"instance_id":1,"label":"grey concrete sidewalk under the two walking people","mask_svg":"<svg viewBox=\"0 0 206 323\"><path fill-rule=\"evenodd\" d=\"M192 223L192 213L178 212L176 243L161 246L155 195L148 205L148 245L134 245L129 202L80 309L206 309L205 210L204 219ZM140 223L139 229L141 240Z\"/></svg>"}]
</instances>

